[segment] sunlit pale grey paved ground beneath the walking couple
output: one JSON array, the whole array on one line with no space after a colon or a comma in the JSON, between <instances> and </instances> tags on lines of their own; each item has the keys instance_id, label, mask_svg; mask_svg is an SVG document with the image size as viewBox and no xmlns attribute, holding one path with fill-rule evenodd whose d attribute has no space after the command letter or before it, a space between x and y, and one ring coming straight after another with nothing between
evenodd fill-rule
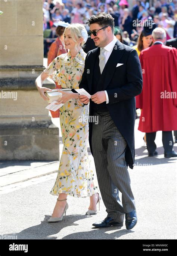
<instances>
[{"instance_id":1,"label":"sunlit pale grey paved ground beneath the walking couple","mask_svg":"<svg viewBox=\"0 0 177 256\"><path fill-rule=\"evenodd\" d=\"M70 196L66 220L47 223L57 198L49 191L59 161L8 161L0 163L0 235L16 239L176 239L176 158L164 158L161 132L156 136L158 157L148 157L143 133L137 130L138 122L139 119L135 126L136 166L129 169L138 215L134 229L127 230L125 225L121 229L95 229L92 223L107 215L103 202L97 215L87 217L89 198ZM176 144L174 149L177 151ZM90 159L93 163L91 155Z\"/></svg>"}]
</instances>

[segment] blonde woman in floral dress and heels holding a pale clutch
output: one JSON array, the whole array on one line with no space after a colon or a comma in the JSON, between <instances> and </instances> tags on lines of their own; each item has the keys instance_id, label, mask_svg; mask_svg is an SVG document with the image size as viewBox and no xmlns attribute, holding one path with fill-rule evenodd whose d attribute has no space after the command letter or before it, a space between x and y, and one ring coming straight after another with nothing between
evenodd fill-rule
<instances>
[{"instance_id":1,"label":"blonde woman in floral dress and heels holding a pale clutch","mask_svg":"<svg viewBox=\"0 0 177 256\"><path fill-rule=\"evenodd\" d=\"M42 83L49 75L53 75L53 80L62 88L79 89L86 58L82 46L87 38L87 31L82 24L71 24L65 28L63 41L69 52L56 57L36 79L37 89L44 100L47 99L44 92L49 89L42 87ZM90 196L90 206L86 214L96 214L96 204L101 199L87 153L88 118L80 120L82 116L88 117L89 105L81 103L78 93L60 92L62 98L57 104L64 103L60 107L60 126L64 146L58 175L50 191L50 194L58 196L58 199L48 222L62 220L68 209L66 202L68 195ZM71 98L72 101L69 101Z\"/></svg>"}]
</instances>

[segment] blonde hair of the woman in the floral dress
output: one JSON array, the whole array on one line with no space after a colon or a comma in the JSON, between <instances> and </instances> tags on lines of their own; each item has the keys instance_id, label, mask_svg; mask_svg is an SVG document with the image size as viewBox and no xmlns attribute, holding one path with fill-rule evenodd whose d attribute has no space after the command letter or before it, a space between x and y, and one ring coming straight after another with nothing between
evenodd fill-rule
<instances>
[{"instance_id":1,"label":"blonde hair of the woman in the floral dress","mask_svg":"<svg viewBox=\"0 0 177 256\"><path fill-rule=\"evenodd\" d=\"M65 31L66 31L66 29L70 29L70 31L71 31L72 39L76 43L75 50L77 51L78 47L84 48L85 42L84 42L84 38L82 36L83 31L86 30L84 25L80 24L80 23L73 23L73 24L70 24L68 27L66 27ZM64 33L65 33L65 31L64 31ZM83 38L83 41L81 43L79 42L80 38Z\"/></svg>"}]
</instances>

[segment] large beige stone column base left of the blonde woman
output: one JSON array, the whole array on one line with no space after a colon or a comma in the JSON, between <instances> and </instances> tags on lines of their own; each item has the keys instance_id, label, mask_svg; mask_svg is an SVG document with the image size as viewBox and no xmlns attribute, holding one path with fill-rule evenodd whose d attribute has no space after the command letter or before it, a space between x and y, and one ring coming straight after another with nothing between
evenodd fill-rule
<instances>
[{"instance_id":1,"label":"large beige stone column base left of the blonde woman","mask_svg":"<svg viewBox=\"0 0 177 256\"><path fill-rule=\"evenodd\" d=\"M35 86L44 70L42 7L0 0L0 160L59 160L59 129Z\"/></svg>"}]
</instances>

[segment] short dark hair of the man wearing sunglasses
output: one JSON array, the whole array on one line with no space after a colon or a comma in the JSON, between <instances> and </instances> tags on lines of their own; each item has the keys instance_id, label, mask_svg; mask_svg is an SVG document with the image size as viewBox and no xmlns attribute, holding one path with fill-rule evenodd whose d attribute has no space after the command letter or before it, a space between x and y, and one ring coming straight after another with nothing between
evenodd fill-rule
<instances>
[{"instance_id":1,"label":"short dark hair of the man wearing sunglasses","mask_svg":"<svg viewBox=\"0 0 177 256\"><path fill-rule=\"evenodd\" d=\"M114 18L112 18L111 14L107 14L106 12L99 12L96 15L92 15L87 20L87 25L90 26L93 23L97 23L101 27L110 26L112 32L114 33Z\"/></svg>"}]
</instances>

